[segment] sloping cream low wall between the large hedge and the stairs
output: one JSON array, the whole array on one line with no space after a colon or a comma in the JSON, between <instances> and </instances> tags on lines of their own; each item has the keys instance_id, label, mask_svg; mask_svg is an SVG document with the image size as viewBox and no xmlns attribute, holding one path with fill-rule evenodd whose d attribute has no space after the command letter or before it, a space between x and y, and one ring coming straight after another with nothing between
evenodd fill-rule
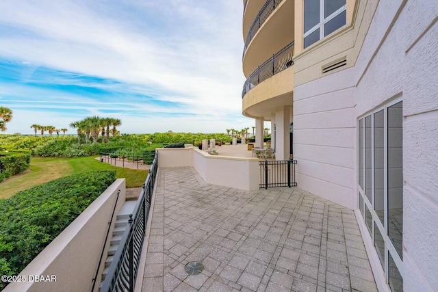
<instances>
[{"instance_id":1,"label":"sloping cream low wall between the large hedge and the stairs","mask_svg":"<svg viewBox=\"0 0 438 292\"><path fill-rule=\"evenodd\" d=\"M91 291L118 190L117 214L125 203L125 178L112 183L21 271L16 279L22 282L11 282L3 291ZM108 240L102 262L109 246ZM99 289L102 270L94 291Z\"/></svg>"}]
</instances>

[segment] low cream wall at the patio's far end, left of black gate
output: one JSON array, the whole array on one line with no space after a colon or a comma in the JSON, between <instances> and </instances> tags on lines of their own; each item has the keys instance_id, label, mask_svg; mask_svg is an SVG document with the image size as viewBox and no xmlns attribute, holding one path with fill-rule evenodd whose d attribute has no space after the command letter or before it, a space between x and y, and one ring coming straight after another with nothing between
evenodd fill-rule
<instances>
[{"instance_id":1,"label":"low cream wall at the patio's far end, left of black gate","mask_svg":"<svg viewBox=\"0 0 438 292\"><path fill-rule=\"evenodd\" d=\"M157 151L159 168L190 166L206 183L246 191L259 189L258 159L209 155L196 147Z\"/></svg>"}]
</instances>

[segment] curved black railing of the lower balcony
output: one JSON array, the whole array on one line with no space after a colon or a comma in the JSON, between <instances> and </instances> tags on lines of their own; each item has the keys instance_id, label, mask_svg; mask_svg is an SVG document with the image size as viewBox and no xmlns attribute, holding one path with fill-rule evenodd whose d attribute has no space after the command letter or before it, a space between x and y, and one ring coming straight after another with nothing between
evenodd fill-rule
<instances>
[{"instance_id":1,"label":"curved black railing of the lower balcony","mask_svg":"<svg viewBox=\"0 0 438 292\"><path fill-rule=\"evenodd\" d=\"M259 83L294 65L294 60L292 59L293 55L294 41L281 49L278 53L272 55L270 59L266 60L266 62L261 64L251 73L251 75L249 75L244 84L242 98L245 96L246 92L255 88Z\"/></svg>"}]
</instances>

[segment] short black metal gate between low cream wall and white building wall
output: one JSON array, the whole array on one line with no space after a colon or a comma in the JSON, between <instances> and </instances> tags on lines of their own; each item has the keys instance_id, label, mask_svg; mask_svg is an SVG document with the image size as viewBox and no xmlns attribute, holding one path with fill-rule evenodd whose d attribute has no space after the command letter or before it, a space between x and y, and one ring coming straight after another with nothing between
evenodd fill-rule
<instances>
[{"instance_id":1,"label":"short black metal gate between low cream wall and white building wall","mask_svg":"<svg viewBox=\"0 0 438 292\"><path fill-rule=\"evenodd\" d=\"M259 161L259 188L296 187L295 165L296 160L292 159Z\"/></svg>"}]
</instances>

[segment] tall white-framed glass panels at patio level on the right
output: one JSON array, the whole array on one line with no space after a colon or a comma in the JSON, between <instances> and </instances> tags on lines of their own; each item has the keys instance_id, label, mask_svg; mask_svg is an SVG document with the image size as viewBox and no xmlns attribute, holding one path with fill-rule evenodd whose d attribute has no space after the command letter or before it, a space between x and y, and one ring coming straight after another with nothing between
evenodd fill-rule
<instances>
[{"instance_id":1,"label":"tall white-framed glass panels at patio level on the right","mask_svg":"<svg viewBox=\"0 0 438 292\"><path fill-rule=\"evenodd\" d=\"M383 105L358 128L359 209L391 291L402 291L403 102Z\"/></svg>"}]
</instances>

